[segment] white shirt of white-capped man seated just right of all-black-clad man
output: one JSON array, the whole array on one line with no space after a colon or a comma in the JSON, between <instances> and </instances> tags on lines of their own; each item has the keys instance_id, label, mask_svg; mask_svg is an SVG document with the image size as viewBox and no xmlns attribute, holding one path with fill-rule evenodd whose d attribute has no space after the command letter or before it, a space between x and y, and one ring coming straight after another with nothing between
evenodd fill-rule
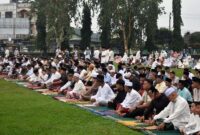
<instances>
[{"instance_id":1,"label":"white shirt of white-capped man seated just right of all-black-clad man","mask_svg":"<svg viewBox=\"0 0 200 135\"><path fill-rule=\"evenodd\" d=\"M128 92L126 94L126 98L124 101L121 103L122 107L124 108L133 108L138 105L138 103L141 101L142 97L140 94L135 91L134 89L131 90L131 92Z\"/></svg>"}]
</instances>

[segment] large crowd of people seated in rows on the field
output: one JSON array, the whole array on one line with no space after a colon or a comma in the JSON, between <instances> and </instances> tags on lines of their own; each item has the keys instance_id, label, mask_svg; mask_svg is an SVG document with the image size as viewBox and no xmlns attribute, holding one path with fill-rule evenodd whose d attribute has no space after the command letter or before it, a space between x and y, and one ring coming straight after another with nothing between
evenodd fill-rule
<instances>
[{"instance_id":1,"label":"large crowd of people seated in rows on the field","mask_svg":"<svg viewBox=\"0 0 200 135\"><path fill-rule=\"evenodd\" d=\"M25 80L31 88L107 106L121 117L156 125L158 130L200 134L200 69L184 65L181 76L173 70L191 56L161 51L147 57L138 51L120 57L111 49L92 53L89 48L84 55L59 48L55 58L6 52L0 57L0 73Z\"/></svg>"}]
</instances>

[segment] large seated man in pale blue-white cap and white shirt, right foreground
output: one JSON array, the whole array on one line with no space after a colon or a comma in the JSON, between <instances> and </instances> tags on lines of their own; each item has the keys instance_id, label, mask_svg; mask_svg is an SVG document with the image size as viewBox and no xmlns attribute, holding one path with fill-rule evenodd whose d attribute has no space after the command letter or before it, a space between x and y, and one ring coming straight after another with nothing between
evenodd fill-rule
<instances>
[{"instance_id":1,"label":"large seated man in pale blue-white cap and white shirt, right foreground","mask_svg":"<svg viewBox=\"0 0 200 135\"><path fill-rule=\"evenodd\" d=\"M170 103L158 115L154 116L154 120L158 124L158 130L174 130L183 128L190 118L190 108L187 101L179 96L174 88L168 88L165 92Z\"/></svg>"}]
</instances>

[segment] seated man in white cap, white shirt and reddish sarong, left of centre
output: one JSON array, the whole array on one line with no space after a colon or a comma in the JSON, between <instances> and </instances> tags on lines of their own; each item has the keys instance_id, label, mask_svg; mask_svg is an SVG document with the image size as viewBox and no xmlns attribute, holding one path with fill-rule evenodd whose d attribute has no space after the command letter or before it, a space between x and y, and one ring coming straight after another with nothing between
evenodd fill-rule
<instances>
[{"instance_id":1,"label":"seated man in white cap, white shirt and reddish sarong, left of centre","mask_svg":"<svg viewBox=\"0 0 200 135\"><path fill-rule=\"evenodd\" d=\"M74 88L72 91L67 92L66 96L70 99L81 99L81 94L85 92L85 85L80 80L80 75L74 73L73 81L75 82Z\"/></svg>"}]
</instances>

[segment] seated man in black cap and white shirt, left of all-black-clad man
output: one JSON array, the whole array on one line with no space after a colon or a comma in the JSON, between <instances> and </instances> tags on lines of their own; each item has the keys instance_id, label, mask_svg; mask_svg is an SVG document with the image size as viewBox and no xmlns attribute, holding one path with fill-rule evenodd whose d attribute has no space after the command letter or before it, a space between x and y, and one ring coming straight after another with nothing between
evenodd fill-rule
<instances>
[{"instance_id":1,"label":"seated man in black cap and white shirt, left of all-black-clad man","mask_svg":"<svg viewBox=\"0 0 200 135\"><path fill-rule=\"evenodd\" d=\"M115 98L115 94L110 86L104 82L103 75L97 76L97 85L99 86L98 92L96 95L91 97L91 102L97 106L107 106L108 102Z\"/></svg>"}]
</instances>

